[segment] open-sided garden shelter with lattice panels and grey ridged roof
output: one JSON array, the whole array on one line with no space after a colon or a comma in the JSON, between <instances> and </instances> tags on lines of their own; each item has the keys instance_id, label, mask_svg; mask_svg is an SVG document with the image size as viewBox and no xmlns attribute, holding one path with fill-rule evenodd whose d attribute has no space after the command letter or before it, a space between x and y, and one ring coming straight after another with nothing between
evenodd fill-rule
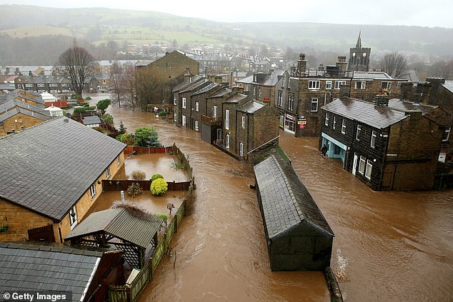
<instances>
[{"instance_id":1,"label":"open-sided garden shelter with lattice panels and grey ridged roof","mask_svg":"<svg viewBox=\"0 0 453 302\"><path fill-rule=\"evenodd\" d=\"M91 213L64 241L71 246L111 248L124 252L132 268L143 268L146 247L155 247L162 219L136 208L120 207Z\"/></svg>"}]
</instances>

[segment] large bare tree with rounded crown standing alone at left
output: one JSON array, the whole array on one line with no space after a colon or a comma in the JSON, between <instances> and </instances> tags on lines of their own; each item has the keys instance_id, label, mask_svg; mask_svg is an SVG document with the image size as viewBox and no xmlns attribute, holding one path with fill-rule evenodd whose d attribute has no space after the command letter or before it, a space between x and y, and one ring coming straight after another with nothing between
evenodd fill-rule
<instances>
[{"instance_id":1,"label":"large bare tree with rounded crown standing alone at left","mask_svg":"<svg viewBox=\"0 0 453 302\"><path fill-rule=\"evenodd\" d=\"M58 64L64 74L69 76L72 89L82 95L85 82L94 75L95 61L86 49L73 46L59 56Z\"/></svg>"}]
</instances>

